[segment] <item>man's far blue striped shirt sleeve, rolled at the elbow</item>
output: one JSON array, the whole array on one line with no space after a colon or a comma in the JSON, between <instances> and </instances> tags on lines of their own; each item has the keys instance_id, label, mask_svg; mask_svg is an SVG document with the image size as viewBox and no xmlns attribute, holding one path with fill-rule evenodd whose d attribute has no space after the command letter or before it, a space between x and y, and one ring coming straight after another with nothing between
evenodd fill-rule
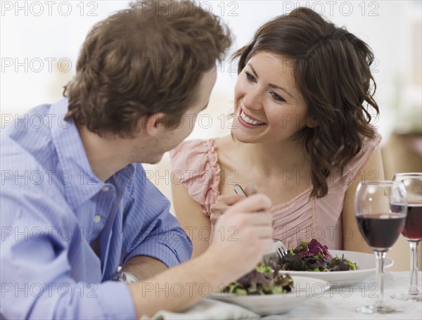
<instances>
[{"instance_id":1,"label":"man's far blue striped shirt sleeve, rolled at the elbow","mask_svg":"<svg viewBox=\"0 0 422 320\"><path fill-rule=\"evenodd\" d=\"M191 258L192 242L169 210L170 201L136 165L123 215L123 264L136 255L154 257L167 267Z\"/></svg>"}]
</instances>

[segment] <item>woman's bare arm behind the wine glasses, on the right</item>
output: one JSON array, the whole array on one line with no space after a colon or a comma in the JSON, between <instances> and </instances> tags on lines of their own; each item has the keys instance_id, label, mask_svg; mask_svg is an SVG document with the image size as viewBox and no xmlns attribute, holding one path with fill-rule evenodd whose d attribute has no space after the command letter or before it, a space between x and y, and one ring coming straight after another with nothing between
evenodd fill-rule
<instances>
[{"instance_id":1,"label":"woman's bare arm behind the wine glasses, on the right","mask_svg":"<svg viewBox=\"0 0 422 320\"><path fill-rule=\"evenodd\" d=\"M362 238L357 226L356 218L354 217L354 195L356 193L357 185L360 181L379 181L384 179L383 159L381 158L381 148L378 146L372 155L369 162L364 167L363 171L357 179L350 184L345 194L345 202L343 203L343 231L345 239L343 239L343 249L360 252L373 252ZM350 231L350 236L347 234Z\"/></svg>"}]
</instances>

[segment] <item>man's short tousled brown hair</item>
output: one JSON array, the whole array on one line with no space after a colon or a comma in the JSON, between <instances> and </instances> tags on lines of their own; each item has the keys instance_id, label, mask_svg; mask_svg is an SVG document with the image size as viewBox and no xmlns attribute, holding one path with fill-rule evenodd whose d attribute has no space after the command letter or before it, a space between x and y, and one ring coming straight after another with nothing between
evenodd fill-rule
<instances>
[{"instance_id":1,"label":"man's short tousled brown hair","mask_svg":"<svg viewBox=\"0 0 422 320\"><path fill-rule=\"evenodd\" d=\"M180 119L230 45L228 27L191 1L136 1L87 35L63 93L66 119L120 136L143 115Z\"/></svg>"}]
</instances>

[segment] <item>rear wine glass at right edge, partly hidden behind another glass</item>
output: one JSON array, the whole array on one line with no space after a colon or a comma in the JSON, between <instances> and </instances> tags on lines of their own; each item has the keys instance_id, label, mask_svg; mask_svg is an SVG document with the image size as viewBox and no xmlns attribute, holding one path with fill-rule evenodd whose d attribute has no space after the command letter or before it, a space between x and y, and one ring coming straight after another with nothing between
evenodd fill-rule
<instances>
[{"instance_id":1,"label":"rear wine glass at right edge, partly hidden behind another glass","mask_svg":"<svg viewBox=\"0 0 422 320\"><path fill-rule=\"evenodd\" d=\"M422 172L397 173L407 191L407 217L402 234L410 245L410 288L408 293L392 295L393 299L421 302L418 289L418 245L422 240Z\"/></svg>"}]
</instances>

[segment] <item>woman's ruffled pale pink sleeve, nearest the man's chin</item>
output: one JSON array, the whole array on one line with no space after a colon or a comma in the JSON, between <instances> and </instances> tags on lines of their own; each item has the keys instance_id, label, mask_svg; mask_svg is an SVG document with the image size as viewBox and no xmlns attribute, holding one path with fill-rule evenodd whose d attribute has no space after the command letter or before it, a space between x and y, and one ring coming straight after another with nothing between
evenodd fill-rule
<instances>
[{"instance_id":1,"label":"woman's ruffled pale pink sleeve, nearest the man's chin","mask_svg":"<svg viewBox=\"0 0 422 320\"><path fill-rule=\"evenodd\" d=\"M204 215L219 196L220 172L214 139L185 141L170 152L172 174L180 178Z\"/></svg>"}]
</instances>

